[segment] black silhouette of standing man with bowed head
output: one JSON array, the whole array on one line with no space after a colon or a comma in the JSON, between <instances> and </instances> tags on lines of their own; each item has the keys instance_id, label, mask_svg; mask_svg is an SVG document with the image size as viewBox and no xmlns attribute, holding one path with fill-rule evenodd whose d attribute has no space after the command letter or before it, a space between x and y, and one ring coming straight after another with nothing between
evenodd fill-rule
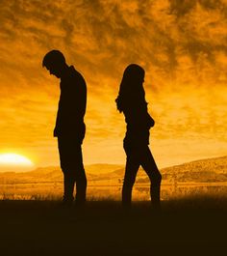
<instances>
[{"instance_id":1,"label":"black silhouette of standing man with bowed head","mask_svg":"<svg viewBox=\"0 0 227 256\"><path fill-rule=\"evenodd\" d=\"M82 143L86 126L84 116L87 86L84 77L65 63L63 53L51 50L42 61L50 74L61 79L61 96L54 136L58 137L61 168L63 170L63 204L71 205L76 183L76 204L86 201L87 178L83 164Z\"/></svg>"}]
</instances>

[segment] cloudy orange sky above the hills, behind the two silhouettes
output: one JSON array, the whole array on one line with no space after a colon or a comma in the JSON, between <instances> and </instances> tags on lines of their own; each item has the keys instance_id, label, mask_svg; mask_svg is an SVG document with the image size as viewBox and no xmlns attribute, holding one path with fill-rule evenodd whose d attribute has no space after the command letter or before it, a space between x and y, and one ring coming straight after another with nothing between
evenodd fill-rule
<instances>
[{"instance_id":1,"label":"cloudy orange sky above the hills, behind the two silhouettes","mask_svg":"<svg viewBox=\"0 0 227 256\"><path fill-rule=\"evenodd\" d=\"M114 99L130 63L146 71L160 167L227 155L226 0L2 0L0 24L0 153L59 164L59 80L41 67L57 48L88 84L86 164L125 161Z\"/></svg>"}]
</instances>

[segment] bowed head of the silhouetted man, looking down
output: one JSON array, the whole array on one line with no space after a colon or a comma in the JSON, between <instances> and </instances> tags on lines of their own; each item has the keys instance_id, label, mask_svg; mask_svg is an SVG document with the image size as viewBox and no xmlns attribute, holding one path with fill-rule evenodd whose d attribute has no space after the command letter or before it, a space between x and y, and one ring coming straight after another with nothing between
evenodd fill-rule
<instances>
[{"instance_id":1,"label":"bowed head of the silhouetted man, looking down","mask_svg":"<svg viewBox=\"0 0 227 256\"><path fill-rule=\"evenodd\" d=\"M54 74L60 78L63 74L63 70L67 67L63 53L60 50L47 52L42 60L42 67L45 67L50 74Z\"/></svg>"}]
</instances>

